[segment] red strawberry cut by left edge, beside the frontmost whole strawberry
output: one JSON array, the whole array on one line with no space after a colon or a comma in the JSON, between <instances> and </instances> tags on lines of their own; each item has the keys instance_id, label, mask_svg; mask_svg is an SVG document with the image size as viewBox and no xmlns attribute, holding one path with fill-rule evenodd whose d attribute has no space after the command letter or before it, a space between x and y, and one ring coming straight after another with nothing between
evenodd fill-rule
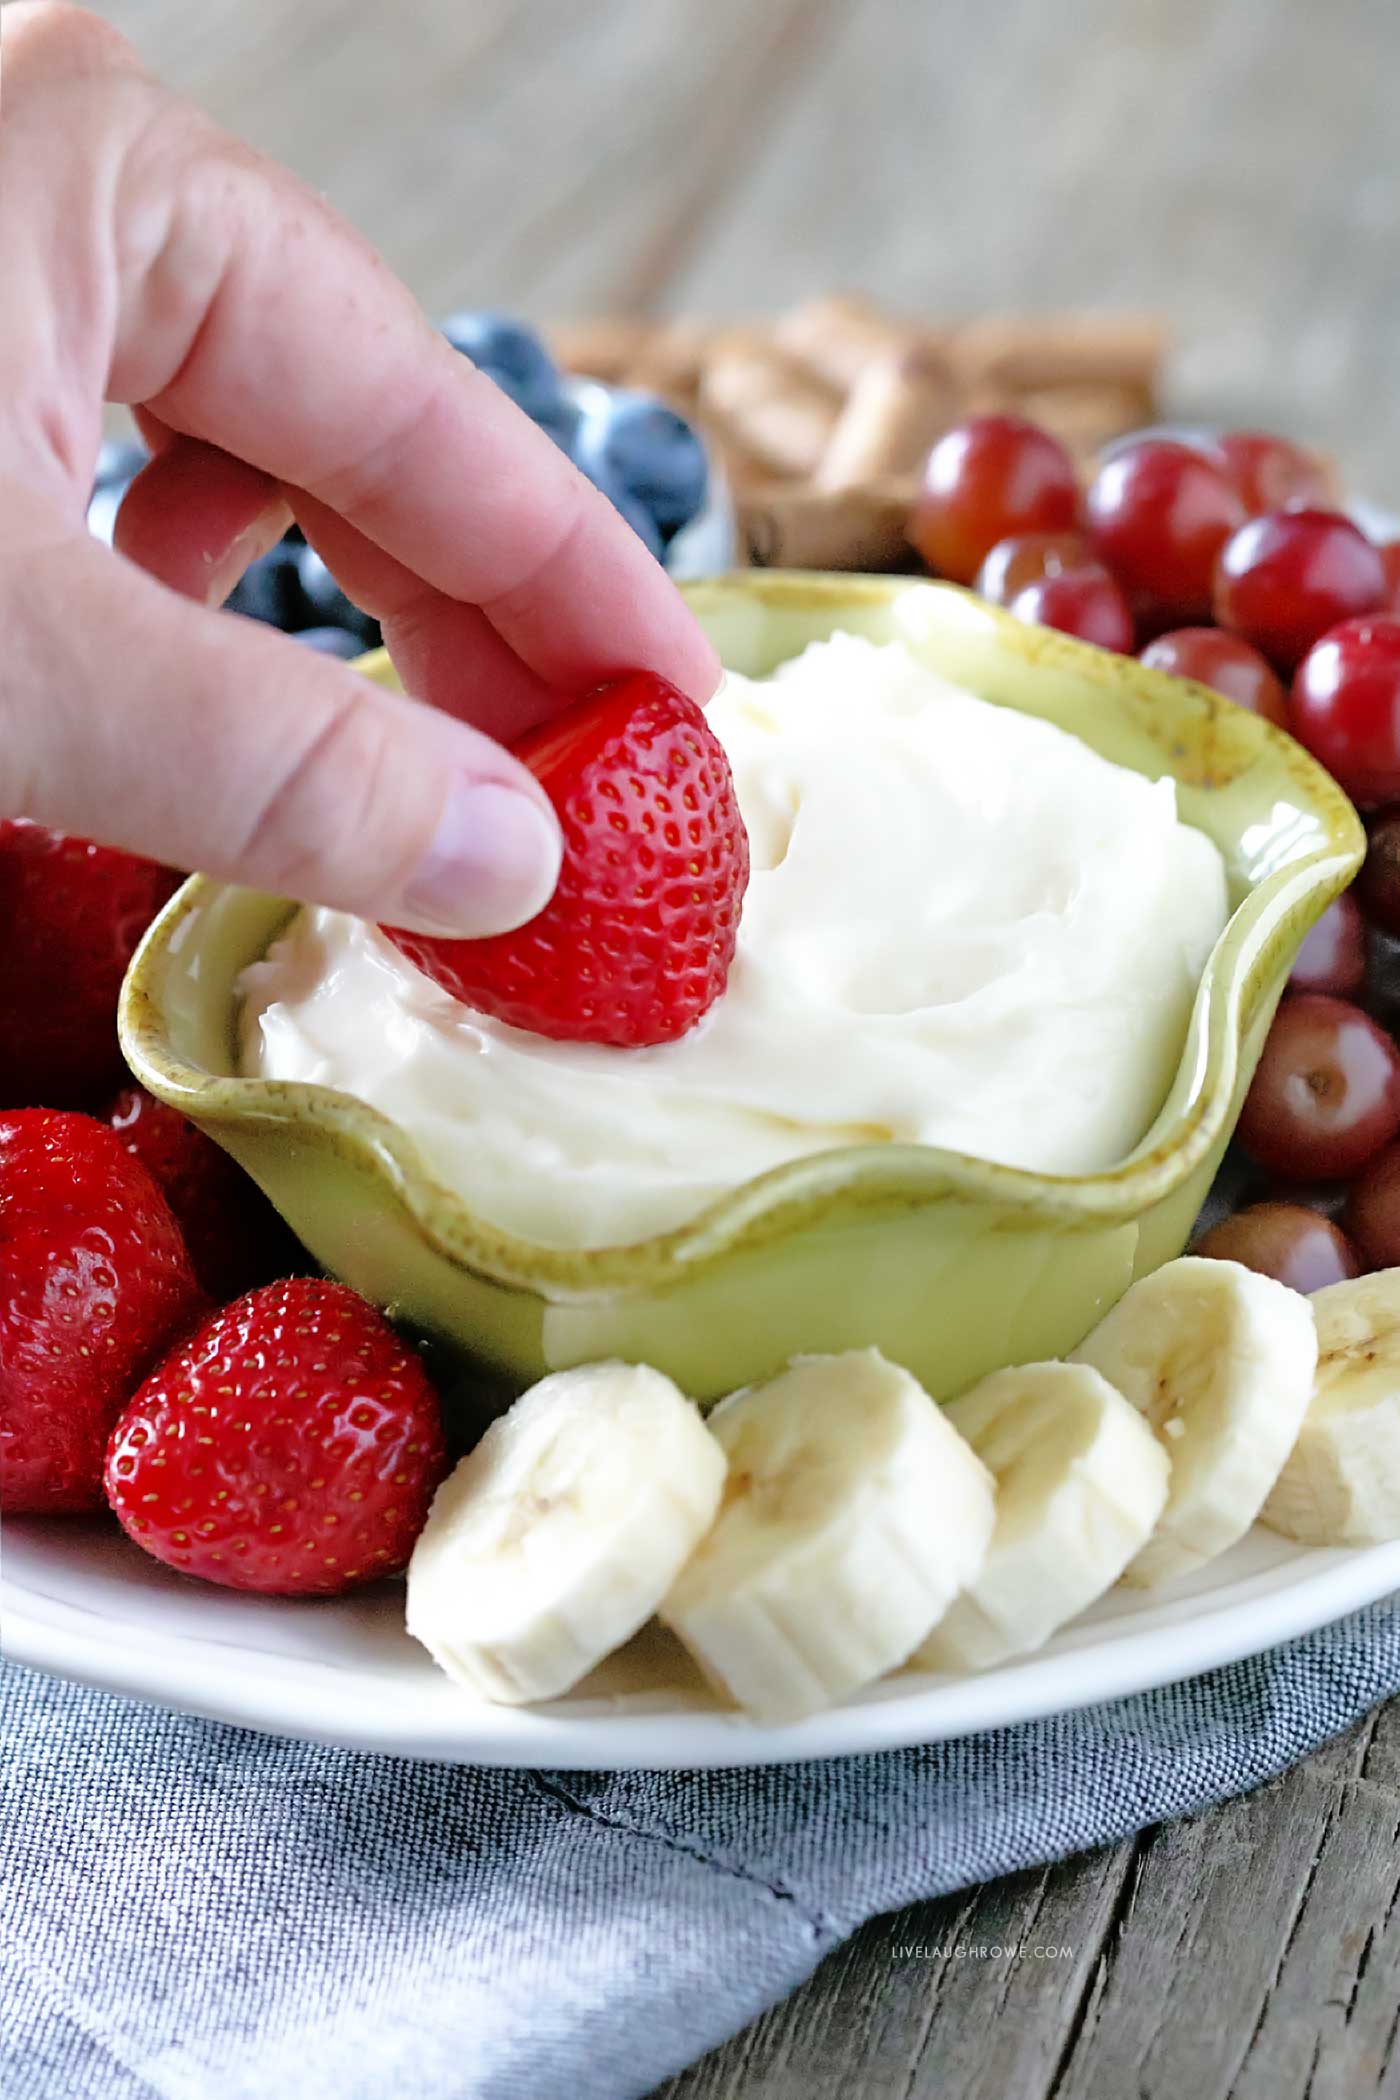
<instances>
[{"instance_id":1,"label":"red strawberry cut by left edge, beside the frontmost whole strawberry","mask_svg":"<svg viewBox=\"0 0 1400 2100\"><path fill-rule=\"evenodd\" d=\"M103 1447L204 1310L166 1199L88 1115L0 1115L0 1506L101 1510Z\"/></svg>"}]
</instances>

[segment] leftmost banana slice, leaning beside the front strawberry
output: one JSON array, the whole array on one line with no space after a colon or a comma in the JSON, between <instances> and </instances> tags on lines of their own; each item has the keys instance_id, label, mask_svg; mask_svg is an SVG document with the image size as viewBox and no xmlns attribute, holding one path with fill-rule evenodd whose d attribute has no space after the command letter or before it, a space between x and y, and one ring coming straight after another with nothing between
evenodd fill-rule
<instances>
[{"instance_id":1,"label":"leftmost banana slice, leaning beside the front strawberry","mask_svg":"<svg viewBox=\"0 0 1400 2100\"><path fill-rule=\"evenodd\" d=\"M556 1699L653 1615L722 1489L724 1451L661 1371L556 1371L437 1491L409 1634L487 1699Z\"/></svg>"}]
</instances>

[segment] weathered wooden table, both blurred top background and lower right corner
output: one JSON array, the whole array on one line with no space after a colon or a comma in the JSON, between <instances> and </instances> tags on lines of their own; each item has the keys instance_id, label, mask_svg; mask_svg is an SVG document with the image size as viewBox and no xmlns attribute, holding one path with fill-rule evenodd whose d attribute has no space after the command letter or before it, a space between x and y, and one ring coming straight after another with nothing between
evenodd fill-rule
<instances>
[{"instance_id":1,"label":"weathered wooden table, both blurred top background and lower right corner","mask_svg":"<svg viewBox=\"0 0 1400 2100\"><path fill-rule=\"evenodd\" d=\"M432 309L1159 307L1173 407L1400 504L1396 0L103 10ZM1400 2094L1398 1835L1392 1709L1245 1802L869 1926L665 2092ZM1068 1953L976 1953L1007 1940Z\"/></svg>"}]
</instances>

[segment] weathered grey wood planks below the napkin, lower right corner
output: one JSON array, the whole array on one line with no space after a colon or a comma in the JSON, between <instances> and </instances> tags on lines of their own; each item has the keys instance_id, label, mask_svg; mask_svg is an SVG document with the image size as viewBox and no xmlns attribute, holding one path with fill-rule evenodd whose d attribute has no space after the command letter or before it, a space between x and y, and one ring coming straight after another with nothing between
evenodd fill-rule
<instances>
[{"instance_id":1,"label":"weathered grey wood planks below the napkin, lower right corner","mask_svg":"<svg viewBox=\"0 0 1400 2100\"><path fill-rule=\"evenodd\" d=\"M657 2100L1400 2094L1398 1835L1390 1707L1240 1802L877 1919ZM1007 1942L1070 1953L976 1955Z\"/></svg>"}]
</instances>

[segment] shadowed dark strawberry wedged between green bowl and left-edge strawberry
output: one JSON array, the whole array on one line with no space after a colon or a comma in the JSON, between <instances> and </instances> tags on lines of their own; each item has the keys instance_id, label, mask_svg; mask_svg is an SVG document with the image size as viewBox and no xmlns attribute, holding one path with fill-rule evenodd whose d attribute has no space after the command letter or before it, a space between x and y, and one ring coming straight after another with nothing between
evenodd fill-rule
<instances>
[{"instance_id":1,"label":"shadowed dark strawberry wedged between green bowl and left-edge strawberry","mask_svg":"<svg viewBox=\"0 0 1400 2100\"><path fill-rule=\"evenodd\" d=\"M304 1266L298 1241L258 1184L178 1109L143 1086L124 1086L103 1121L166 1197L210 1298L225 1304Z\"/></svg>"}]
</instances>

